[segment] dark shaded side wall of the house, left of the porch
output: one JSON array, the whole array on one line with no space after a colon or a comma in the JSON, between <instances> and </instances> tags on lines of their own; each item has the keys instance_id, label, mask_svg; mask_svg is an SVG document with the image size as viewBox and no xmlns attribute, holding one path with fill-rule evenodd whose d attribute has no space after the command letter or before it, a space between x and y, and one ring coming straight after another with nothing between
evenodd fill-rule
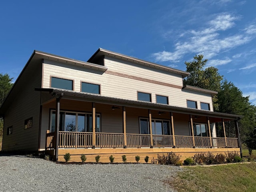
<instances>
[{"instance_id":1,"label":"dark shaded side wall of the house, left of the porch","mask_svg":"<svg viewBox=\"0 0 256 192\"><path fill-rule=\"evenodd\" d=\"M38 150L40 92L34 90L41 86L42 64L34 64L37 70L27 68L21 76L16 98L10 104L4 116L4 133L2 150ZM30 72L29 72L30 71ZM24 120L33 117L32 128L24 130ZM12 134L7 135L7 128L12 126Z\"/></svg>"}]
</instances>

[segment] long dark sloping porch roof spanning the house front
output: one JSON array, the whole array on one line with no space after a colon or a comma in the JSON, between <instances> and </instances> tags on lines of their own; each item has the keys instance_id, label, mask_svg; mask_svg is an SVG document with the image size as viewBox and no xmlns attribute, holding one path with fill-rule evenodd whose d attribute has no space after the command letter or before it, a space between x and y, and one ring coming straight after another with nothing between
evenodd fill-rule
<instances>
[{"instance_id":1,"label":"long dark sloping porch roof spanning the house front","mask_svg":"<svg viewBox=\"0 0 256 192\"><path fill-rule=\"evenodd\" d=\"M112 97L106 97L106 96L100 96L100 95L94 95L94 94L59 90L54 88L35 88L35 90L42 91L42 92L49 92L50 94L56 94L56 95L63 93L62 98L69 99L69 100L79 100L79 101L95 102L95 103L110 104L110 105L117 105L117 106L144 108L144 109L151 109L151 110L176 112L176 113L182 113L182 114L191 114L191 115L197 115L197 116L208 116L212 120L215 120L216 122L219 121L218 119L222 119L222 118L224 120L239 120L240 118L243 117L241 115L226 114L226 113L212 112L207 110L184 108L184 107L170 106L165 104L157 104L157 103L150 103L150 102L143 102L143 101L133 101L133 100L120 99L120 98L112 98Z\"/></svg>"}]
</instances>

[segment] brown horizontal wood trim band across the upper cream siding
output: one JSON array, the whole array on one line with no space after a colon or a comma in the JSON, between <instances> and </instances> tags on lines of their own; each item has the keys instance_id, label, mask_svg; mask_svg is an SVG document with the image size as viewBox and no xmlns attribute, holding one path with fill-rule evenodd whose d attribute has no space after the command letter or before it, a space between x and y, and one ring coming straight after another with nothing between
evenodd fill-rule
<instances>
[{"instance_id":1,"label":"brown horizontal wood trim band across the upper cream siding","mask_svg":"<svg viewBox=\"0 0 256 192\"><path fill-rule=\"evenodd\" d=\"M174 85L174 84L169 84L169 83L164 83L164 82L160 82L160 81L156 81L156 80L150 80L150 79L146 79L146 78L142 78L142 77L137 77L137 76L132 76L132 75L128 75L128 74L118 73L118 72L114 72L114 71L106 70L105 73L106 74L110 74L110 75L114 75L114 76L128 78L128 79L133 79L133 80L153 83L153 84L157 84L157 85L163 85L163 86L168 86L168 87L172 87L172 88L182 89L182 86L178 86L178 85Z\"/></svg>"}]
</instances>

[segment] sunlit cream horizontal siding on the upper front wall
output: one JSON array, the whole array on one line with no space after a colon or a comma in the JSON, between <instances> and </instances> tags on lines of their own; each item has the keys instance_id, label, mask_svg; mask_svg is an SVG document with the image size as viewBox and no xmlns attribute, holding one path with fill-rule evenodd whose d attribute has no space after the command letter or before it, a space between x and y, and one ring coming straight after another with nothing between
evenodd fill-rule
<instances>
[{"instance_id":1,"label":"sunlit cream horizontal siding on the upper front wall","mask_svg":"<svg viewBox=\"0 0 256 192\"><path fill-rule=\"evenodd\" d=\"M126 73L138 77L157 80L164 83L171 83L182 86L182 78L177 74L160 73L158 70L150 71L148 68L142 68L135 65L128 65L105 59L108 67L107 71ZM118 67L119 66L119 67ZM129 68L130 66L130 68ZM141 70L141 71L140 71ZM137 91L148 92L152 96L152 102L156 103L156 94L168 96L169 104L172 106L186 107L186 100L197 101L198 109L200 102L210 104L212 110L212 97L210 94L182 90L170 86L134 80L127 77L116 76L107 73L97 72L95 70L85 69L79 66L70 66L44 60L43 88L50 88L50 76L74 80L74 91L80 92L80 82L92 82L101 85L101 95L128 100L137 100Z\"/></svg>"}]
</instances>

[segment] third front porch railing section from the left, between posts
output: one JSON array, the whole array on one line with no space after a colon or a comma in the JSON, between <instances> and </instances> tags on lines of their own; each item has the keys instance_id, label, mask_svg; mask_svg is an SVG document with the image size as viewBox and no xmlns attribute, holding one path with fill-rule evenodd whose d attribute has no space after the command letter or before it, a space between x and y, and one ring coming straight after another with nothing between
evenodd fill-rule
<instances>
[{"instance_id":1,"label":"third front porch railing section from the left, between posts","mask_svg":"<svg viewBox=\"0 0 256 192\"><path fill-rule=\"evenodd\" d=\"M127 147L150 147L150 135L126 134Z\"/></svg>"}]
</instances>

